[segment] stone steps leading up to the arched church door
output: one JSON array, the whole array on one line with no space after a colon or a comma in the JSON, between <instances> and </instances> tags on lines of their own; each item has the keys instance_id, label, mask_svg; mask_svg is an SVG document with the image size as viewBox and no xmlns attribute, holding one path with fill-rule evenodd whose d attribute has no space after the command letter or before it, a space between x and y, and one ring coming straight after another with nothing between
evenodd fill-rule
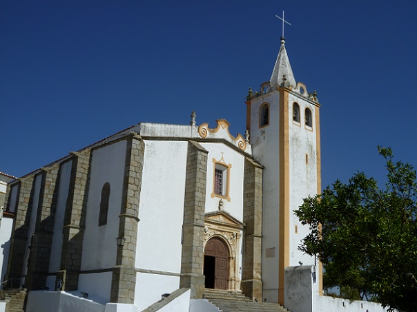
<instances>
[{"instance_id":1,"label":"stone steps leading up to the arched church door","mask_svg":"<svg viewBox=\"0 0 417 312\"><path fill-rule=\"evenodd\" d=\"M229 293L217 289L206 289L204 297L223 312L287 312L278 303L255 302L243 293Z\"/></svg>"}]
</instances>

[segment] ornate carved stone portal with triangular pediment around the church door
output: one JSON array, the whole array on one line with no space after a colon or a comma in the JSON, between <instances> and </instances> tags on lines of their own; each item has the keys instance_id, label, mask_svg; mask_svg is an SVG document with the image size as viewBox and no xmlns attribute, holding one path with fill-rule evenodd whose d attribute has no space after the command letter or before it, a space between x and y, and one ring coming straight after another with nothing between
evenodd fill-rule
<instances>
[{"instance_id":1,"label":"ornate carved stone portal with triangular pediment around the church door","mask_svg":"<svg viewBox=\"0 0 417 312\"><path fill-rule=\"evenodd\" d=\"M214 211L207 213L204 218L204 272L206 273L206 288L226 289L233 292L240 290L240 246L244 224L233 218L226 211ZM214 244L214 240L217 244ZM208 242L210 241L210 244ZM211 250L220 249L220 252ZM222 256L222 246L226 252ZM210 249L210 250L209 250ZM217 256L217 258L216 258ZM215 259L216 258L216 259ZM226 264L224 264L226 259ZM217 264L217 270L214 269ZM220 265L226 266L220 269ZM222 278L226 274L226 284Z\"/></svg>"}]
</instances>

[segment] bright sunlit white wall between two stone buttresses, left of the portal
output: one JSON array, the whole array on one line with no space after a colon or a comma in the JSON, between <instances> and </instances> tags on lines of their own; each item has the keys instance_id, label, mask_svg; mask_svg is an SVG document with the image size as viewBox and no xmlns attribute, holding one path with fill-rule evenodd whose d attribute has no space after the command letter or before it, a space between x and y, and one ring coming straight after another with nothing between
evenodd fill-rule
<instances>
[{"instance_id":1,"label":"bright sunlit white wall between two stone buttresses, left of the portal","mask_svg":"<svg viewBox=\"0 0 417 312\"><path fill-rule=\"evenodd\" d=\"M180 286L187 147L187 141L145 140L135 260L139 309Z\"/></svg>"}]
</instances>

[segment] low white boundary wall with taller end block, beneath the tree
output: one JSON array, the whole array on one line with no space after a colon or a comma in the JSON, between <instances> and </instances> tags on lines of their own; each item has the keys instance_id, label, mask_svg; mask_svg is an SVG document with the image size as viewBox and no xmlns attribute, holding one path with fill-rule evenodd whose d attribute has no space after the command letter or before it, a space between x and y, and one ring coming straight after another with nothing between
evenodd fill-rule
<instances>
[{"instance_id":1,"label":"low white boundary wall with taller end block, beneath the tree","mask_svg":"<svg viewBox=\"0 0 417 312\"><path fill-rule=\"evenodd\" d=\"M285 269L285 304L294 312L386 312L381 304L350 301L319 295L313 291L313 266L302 265Z\"/></svg>"}]
</instances>

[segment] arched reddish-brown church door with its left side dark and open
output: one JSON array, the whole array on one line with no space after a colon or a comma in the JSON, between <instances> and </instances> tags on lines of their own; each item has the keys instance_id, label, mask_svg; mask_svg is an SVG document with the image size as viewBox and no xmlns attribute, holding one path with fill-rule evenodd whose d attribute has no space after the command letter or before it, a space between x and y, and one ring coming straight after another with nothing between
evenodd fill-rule
<instances>
[{"instance_id":1,"label":"arched reddish-brown church door with its left side dark and open","mask_svg":"<svg viewBox=\"0 0 417 312\"><path fill-rule=\"evenodd\" d=\"M204 286L211 289L227 289L229 279L229 248L218 237L211 238L204 247Z\"/></svg>"}]
</instances>

